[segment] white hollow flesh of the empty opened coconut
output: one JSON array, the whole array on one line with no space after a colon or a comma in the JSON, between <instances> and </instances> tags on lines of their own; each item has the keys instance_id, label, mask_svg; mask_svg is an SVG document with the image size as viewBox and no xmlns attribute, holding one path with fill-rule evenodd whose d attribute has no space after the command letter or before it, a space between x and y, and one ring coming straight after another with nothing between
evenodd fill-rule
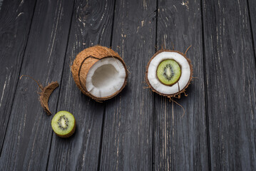
<instances>
[{"instance_id":1,"label":"white hollow flesh of the empty opened coconut","mask_svg":"<svg viewBox=\"0 0 256 171\"><path fill-rule=\"evenodd\" d=\"M126 81L126 69L117 58L97 61L86 76L86 89L97 98L105 98L121 90Z\"/></svg>"}]
</instances>

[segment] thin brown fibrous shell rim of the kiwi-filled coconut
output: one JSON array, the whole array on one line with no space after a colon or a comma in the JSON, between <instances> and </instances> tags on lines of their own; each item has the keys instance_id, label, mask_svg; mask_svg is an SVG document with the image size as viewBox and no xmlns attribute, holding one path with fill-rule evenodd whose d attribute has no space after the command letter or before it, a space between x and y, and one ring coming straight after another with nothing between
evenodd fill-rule
<instances>
[{"instance_id":1,"label":"thin brown fibrous shell rim of the kiwi-filled coconut","mask_svg":"<svg viewBox=\"0 0 256 171\"><path fill-rule=\"evenodd\" d=\"M182 90L179 90L178 93L174 93L174 94L164 94L164 93L160 93L159 91L155 90L155 88L153 88L153 86L150 85L149 81L148 81L148 67L149 67L149 64L150 62L153 60L153 58L155 58L155 56L157 56L159 53L162 53L164 51L167 51L167 52L177 52L177 53L180 53L180 55L184 56L184 58L188 61L188 64L190 66L190 79L187 83L187 85L185 86L185 88L183 88ZM187 50L188 51L188 50ZM180 98L180 94L181 93L184 93L185 94L185 89L188 88L188 86L190 85L190 81L192 80L192 77L193 76L193 66L191 64L191 61L189 58L187 58L187 56L184 54L184 53L181 53L180 51L172 51L172 50L160 50L158 51L157 53L155 53L152 58L150 58L150 61L148 62L148 65L147 65L147 68L146 68L146 71L145 71L145 81L147 82L149 88L151 88L151 90L155 93L158 93L159 95L163 95L163 96L166 96L168 98ZM187 94L185 94L185 96L187 96Z\"/></svg>"}]
</instances>

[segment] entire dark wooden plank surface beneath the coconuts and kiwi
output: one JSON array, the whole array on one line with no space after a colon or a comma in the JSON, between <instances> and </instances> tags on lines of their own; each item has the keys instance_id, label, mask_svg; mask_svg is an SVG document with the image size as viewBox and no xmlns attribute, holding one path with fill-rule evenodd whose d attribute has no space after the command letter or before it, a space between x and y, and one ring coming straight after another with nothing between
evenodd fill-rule
<instances>
[{"instance_id":1,"label":"entire dark wooden plank surface beneath the coconuts and kiwi","mask_svg":"<svg viewBox=\"0 0 256 171\"><path fill-rule=\"evenodd\" d=\"M0 170L256 170L254 0L0 0ZM100 44L128 66L104 103L83 95L71 63ZM179 105L145 88L160 48L185 53L194 77ZM58 138L36 83L58 81L52 113L76 133Z\"/></svg>"}]
</instances>

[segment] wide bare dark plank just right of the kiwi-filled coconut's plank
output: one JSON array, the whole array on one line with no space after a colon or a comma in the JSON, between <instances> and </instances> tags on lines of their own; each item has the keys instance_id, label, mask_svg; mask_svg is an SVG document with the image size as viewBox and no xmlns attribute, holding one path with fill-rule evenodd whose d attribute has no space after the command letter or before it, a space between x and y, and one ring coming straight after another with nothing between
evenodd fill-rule
<instances>
[{"instance_id":1,"label":"wide bare dark plank just right of the kiwi-filled coconut's plank","mask_svg":"<svg viewBox=\"0 0 256 171\"><path fill-rule=\"evenodd\" d=\"M256 170L255 56L246 1L203 1L212 170Z\"/></svg>"}]
</instances>

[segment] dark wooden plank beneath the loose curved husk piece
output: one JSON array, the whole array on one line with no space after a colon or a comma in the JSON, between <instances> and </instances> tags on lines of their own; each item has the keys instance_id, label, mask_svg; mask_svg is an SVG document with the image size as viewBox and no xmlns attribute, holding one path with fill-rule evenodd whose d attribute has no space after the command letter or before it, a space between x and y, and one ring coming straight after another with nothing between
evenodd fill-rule
<instances>
[{"instance_id":1,"label":"dark wooden plank beneath the loose curved husk piece","mask_svg":"<svg viewBox=\"0 0 256 171\"><path fill-rule=\"evenodd\" d=\"M43 85L61 81L73 1L37 1L21 74ZM19 51L16 53L19 54ZM51 145L51 116L40 107L37 86L30 78L19 80L2 155L0 170L46 170ZM49 101L55 113L55 90Z\"/></svg>"}]
</instances>

